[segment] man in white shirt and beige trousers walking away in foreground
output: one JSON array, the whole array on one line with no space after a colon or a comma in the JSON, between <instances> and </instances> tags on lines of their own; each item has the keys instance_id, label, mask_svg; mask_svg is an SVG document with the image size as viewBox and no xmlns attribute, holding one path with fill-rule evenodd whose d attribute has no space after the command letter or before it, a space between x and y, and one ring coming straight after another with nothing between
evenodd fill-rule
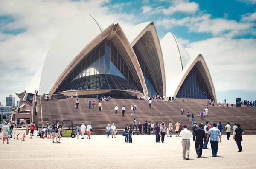
<instances>
[{"instance_id":1,"label":"man in white shirt and beige trousers walking away in foreground","mask_svg":"<svg viewBox=\"0 0 256 169\"><path fill-rule=\"evenodd\" d=\"M190 149L190 138L193 135L192 135L191 131L189 131L187 129L186 125L183 125L183 129L184 130L182 130L180 132L180 136L182 137L181 144L182 144L182 148L183 148L182 157L183 157L183 159L188 160L189 159L189 149Z\"/></svg>"}]
</instances>

